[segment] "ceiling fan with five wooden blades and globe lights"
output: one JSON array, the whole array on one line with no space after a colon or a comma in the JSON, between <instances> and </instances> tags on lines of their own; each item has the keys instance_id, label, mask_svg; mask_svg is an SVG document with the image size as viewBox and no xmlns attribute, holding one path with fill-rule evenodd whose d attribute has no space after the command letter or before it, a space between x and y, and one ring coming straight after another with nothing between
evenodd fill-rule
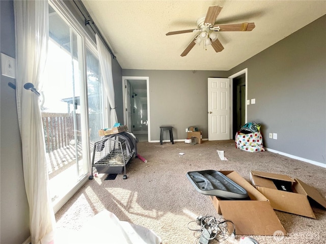
<instances>
[{"instance_id":1,"label":"ceiling fan with five wooden blades and globe lights","mask_svg":"<svg viewBox=\"0 0 326 244\"><path fill-rule=\"evenodd\" d=\"M187 55L196 44L201 43L203 43L204 48L211 45L215 52L221 52L224 47L219 41L216 32L250 32L255 28L255 23L248 22L238 24L215 24L216 18L219 16L221 10L221 6L210 6L207 10L207 14L197 20L196 23L198 28L185 29L183 31L169 32L166 34L167 36L170 36L190 32L199 33L181 53L182 57Z\"/></svg>"}]
</instances>

